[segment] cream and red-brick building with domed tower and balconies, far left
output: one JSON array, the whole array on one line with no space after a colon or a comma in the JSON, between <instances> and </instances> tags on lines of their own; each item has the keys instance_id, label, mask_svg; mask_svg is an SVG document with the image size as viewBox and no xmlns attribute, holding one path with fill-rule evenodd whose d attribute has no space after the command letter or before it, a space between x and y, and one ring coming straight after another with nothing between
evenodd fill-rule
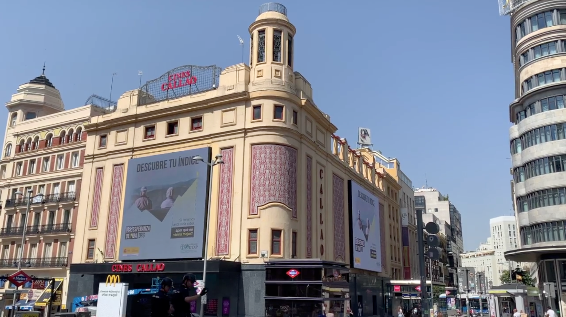
<instances>
[{"instance_id":1,"label":"cream and red-brick building with domed tower and balconies, far left","mask_svg":"<svg viewBox=\"0 0 566 317\"><path fill-rule=\"evenodd\" d=\"M87 138L84 123L106 112L95 106L65 110L59 91L44 74L20 85L6 108L0 160L0 199L4 202L0 275L16 272L21 264L28 275L61 279L55 284L61 291L66 288L74 251ZM23 287L40 289L33 298L27 298L27 293L19 295L29 299L25 305L45 309L45 303L35 302L45 285L30 282ZM12 303L14 295L6 293L12 288L11 283L0 282L2 309ZM65 305L65 299L63 292L62 299L52 303L54 309Z\"/></svg>"}]
</instances>

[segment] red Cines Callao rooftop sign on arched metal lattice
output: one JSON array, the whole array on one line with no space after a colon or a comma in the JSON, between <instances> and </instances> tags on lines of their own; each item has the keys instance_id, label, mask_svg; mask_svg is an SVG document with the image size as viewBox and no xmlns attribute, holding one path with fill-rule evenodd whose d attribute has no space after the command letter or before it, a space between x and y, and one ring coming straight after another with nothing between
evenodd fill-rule
<instances>
[{"instance_id":1,"label":"red Cines Callao rooftop sign on arched metal lattice","mask_svg":"<svg viewBox=\"0 0 566 317\"><path fill-rule=\"evenodd\" d=\"M218 87L221 68L216 65L185 65L166 72L141 86L145 104L194 95Z\"/></svg>"}]
</instances>

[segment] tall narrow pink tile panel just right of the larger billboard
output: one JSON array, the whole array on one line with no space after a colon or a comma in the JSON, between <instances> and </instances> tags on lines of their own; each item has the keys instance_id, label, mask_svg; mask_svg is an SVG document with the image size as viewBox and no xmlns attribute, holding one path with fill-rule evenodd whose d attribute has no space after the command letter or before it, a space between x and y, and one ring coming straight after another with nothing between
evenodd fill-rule
<instances>
[{"instance_id":1,"label":"tall narrow pink tile panel just right of the larger billboard","mask_svg":"<svg viewBox=\"0 0 566 317\"><path fill-rule=\"evenodd\" d=\"M230 253L230 221L232 216L232 186L234 175L234 148L220 151L224 164L220 165L220 190L218 190L218 226L216 230L216 255Z\"/></svg>"}]
</instances>

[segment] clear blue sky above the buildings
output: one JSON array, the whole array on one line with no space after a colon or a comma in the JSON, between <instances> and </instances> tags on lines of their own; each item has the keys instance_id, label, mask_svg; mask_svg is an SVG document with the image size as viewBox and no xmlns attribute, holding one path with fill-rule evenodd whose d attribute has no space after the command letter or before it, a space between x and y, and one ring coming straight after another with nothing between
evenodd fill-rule
<instances>
[{"instance_id":1,"label":"clear blue sky above the buildings","mask_svg":"<svg viewBox=\"0 0 566 317\"><path fill-rule=\"evenodd\" d=\"M266 1L267 2L267 1ZM263 1L3 1L0 97L45 74L66 109L96 93L138 88L181 65L242 61L237 36ZM462 214L465 249L511 215L510 25L497 0L281 1L295 36L295 71L351 145L357 127L397 157L415 187L438 188ZM6 119L6 109L1 110ZM2 124L5 124L2 121Z\"/></svg>"}]
</instances>

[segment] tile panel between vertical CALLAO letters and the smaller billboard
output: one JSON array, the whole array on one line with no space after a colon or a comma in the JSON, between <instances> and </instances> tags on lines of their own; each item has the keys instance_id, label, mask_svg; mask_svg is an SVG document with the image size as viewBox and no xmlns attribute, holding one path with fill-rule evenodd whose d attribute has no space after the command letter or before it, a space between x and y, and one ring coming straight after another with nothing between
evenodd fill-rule
<instances>
[{"instance_id":1,"label":"tile panel between vertical CALLAO letters and the smaller billboard","mask_svg":"<svg viewBox=\"0 0 566 317\"><path fill-rule=\"evenodd\" d=\"M344 221L344 179L332 174L333 222L334 222L334 259L346 261L345 221Z\"/></svg>"}]
</instances>

